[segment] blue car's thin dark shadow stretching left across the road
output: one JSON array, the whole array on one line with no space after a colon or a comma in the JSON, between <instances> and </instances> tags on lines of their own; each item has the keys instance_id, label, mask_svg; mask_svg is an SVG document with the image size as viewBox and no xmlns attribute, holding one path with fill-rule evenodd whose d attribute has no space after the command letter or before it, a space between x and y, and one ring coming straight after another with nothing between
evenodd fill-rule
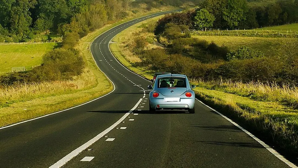
<instances>
[{"instance_id":1,"label":"blue car's thin dark shadow stretching left across the road","mask_svg":"<svg viewBox=\"0 0 298 168\"><path fill-rule=\"evenodd\" d=\"M128 110L94 110L94 111L87 111L91 113L111 113L111 114L124 114L128 113ZM149 110L134 110L132 113L138 113L138 114L152 114L149 112ZM176 111L176 110L157 110L154 114L186 114L186 111ZM152 114L152 115L154 115Z\"/></svg>"}]
</instances>

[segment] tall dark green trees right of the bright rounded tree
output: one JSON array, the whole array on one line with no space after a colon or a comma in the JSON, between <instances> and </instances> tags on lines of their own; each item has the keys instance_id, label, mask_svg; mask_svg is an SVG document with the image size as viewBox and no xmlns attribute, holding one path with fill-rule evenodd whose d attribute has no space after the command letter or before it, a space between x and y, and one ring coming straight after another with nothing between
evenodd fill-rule
<instances>
[{"instance_id":1,"label":"tall dark green trees right of the bright rounded tree","mask_svg":"<svg viewBox=\"0 0 298 168\"><path fill-rule=\"evenodd\" d=\"M205 0L201 4L214 15L214 28L258 28L298 21L298 0L278 0L249 7L246 0Z\"/></svg>"}]
</instances>

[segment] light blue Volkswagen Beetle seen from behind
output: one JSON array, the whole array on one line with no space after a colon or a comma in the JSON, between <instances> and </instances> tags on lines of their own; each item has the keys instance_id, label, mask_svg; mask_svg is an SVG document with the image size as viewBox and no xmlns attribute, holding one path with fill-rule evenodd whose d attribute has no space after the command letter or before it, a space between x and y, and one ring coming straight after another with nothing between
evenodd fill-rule
<instances>
[{"instance_id":1,"label":"light blue Volkswagen Beetle seen from behind","mask_svg":"<svg viewBox=\"0 0 298 168\"><path fill-rule=\"evenodd\" d=\"M149 93L149 111L156 110L188 110L195 113L195 93L186 75L166 74L158 75Z\"/></svg>"}]
</instances>

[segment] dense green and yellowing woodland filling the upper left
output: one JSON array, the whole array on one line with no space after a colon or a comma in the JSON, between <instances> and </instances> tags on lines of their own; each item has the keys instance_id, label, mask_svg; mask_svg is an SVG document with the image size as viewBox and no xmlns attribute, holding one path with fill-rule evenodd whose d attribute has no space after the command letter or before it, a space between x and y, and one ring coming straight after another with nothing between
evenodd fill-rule
<instances>
[{"instance_id":1,"label":"dense green and yellowing woodland filling the upper left","mask_svg":"<svg viewBox=\"0 0 298 168\"><path fill-rule=\"evenodd\" d=\"M140 3L147 3L147 10L151 10L161 5L179 6L184 1L0 0L0 42L26 42L45 31L84 36L107 21L126 17L129 7L138 8Z\"/></svg>"}]
</instances>

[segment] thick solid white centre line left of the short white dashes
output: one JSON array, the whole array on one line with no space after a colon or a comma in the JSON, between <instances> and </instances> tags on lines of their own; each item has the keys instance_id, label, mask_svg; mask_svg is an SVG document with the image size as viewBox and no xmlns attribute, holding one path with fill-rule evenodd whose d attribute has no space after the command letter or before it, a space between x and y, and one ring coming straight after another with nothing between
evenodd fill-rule
<instances>
[{"instance_id":1,"label":"thick solid white centre line left of the short white dashes","mask_svg":"<svg viewBox=\"0 0 298 168\"><path fill-rule=\"evenodd\" d=\"M58 162L56 162L55 164L53 164L49 168L59 168L59 167L65 165L69 160L71 160L72 158L74 158L75 156L77 156L78 154L80 154L82 151L84 151L86 148L88 148L94 142L96 142L97 140L99 140L99 138L103 137L105 134L107 134L112 129L114 129L118 124L120 124L133 110L135 110L135 108L138 107L138 104L141 101L142 101L142 98L140 98L140 100L137 102L137 104L135 104L135 106L132 107L132 109L129 110L129 112L127 112L126 114L124 114L116 123L114 123L113 125L111 125L109 128L105 129L103 132L99 133L94 138L90 139L88 142L86 142L82 146L78 147L77 149L75 149L74 151L72 151L71 153L69 153L68 155L66 155L65 157L63 157L62 159L60 159Z\"/></svg>"}]
</instances>

